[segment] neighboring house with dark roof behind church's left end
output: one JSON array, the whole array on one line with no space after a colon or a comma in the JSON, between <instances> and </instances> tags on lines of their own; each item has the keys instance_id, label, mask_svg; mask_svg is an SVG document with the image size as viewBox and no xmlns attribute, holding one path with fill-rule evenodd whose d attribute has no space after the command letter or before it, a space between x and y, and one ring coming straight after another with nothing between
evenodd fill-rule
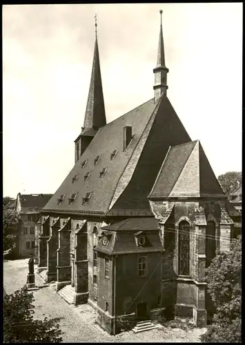
<instances>
[{"instance_id":1,"label":"neighboring house with dark roof behind church's left end","mask_svg":"<svg viewBox=\"0 0 245 345\"><path fill-rule=\"evenodd\" d=\"M52 194L17 195L16 210L21 216L19 222L19 257L35 255L35 224L40 217L40 210Z\"/></svg>"}]
</instances>

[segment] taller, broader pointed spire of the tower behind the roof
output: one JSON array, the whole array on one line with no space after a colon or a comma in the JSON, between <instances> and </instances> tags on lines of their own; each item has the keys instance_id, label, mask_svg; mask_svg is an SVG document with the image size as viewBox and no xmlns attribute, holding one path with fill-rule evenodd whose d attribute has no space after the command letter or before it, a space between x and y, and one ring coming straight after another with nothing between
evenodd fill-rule
<instances>
[{"instance_id":1,"label":"taller, broader pointed spire of the tower behind the roof","mask_svg":"<svg viewBox=\"0 0 245 345\"><path fill-rule=\"evenodd\" d=\"M86 106L86 114L84 118L83 132L90 128L96 129L104 125L106 125L106 112L104 106L104 95L99 64L97 16L95 14L95 51L92 62L92 74L90 79L90 88L88 92L88 101Z\"/></svg>"}]
</instances>

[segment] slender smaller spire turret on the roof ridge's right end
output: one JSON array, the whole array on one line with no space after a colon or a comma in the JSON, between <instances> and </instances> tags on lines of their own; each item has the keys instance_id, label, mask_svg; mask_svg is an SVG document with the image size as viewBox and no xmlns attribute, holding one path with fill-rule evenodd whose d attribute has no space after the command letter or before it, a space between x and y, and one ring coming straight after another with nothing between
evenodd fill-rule
<instances>
[{"instance_id":1,"label":"slender smaller spire turret on the roof ridge's right end","mask_svg":"<svg viewBox=\"0 0 245 345\"><path fill-rule=\"evenodd\" d=\"M159 11L160 15L162 10ZM160 25L160 34L159 34L159 45L157 52L157 66L154 68L153 72L155 73L155 85L153 86L155 90L155 101L161 97L163 92L166 92L168 89L167 86L167 73L168 68L165 66L165 55L164 55L164 35L162 34L162 19Z\"/></svg>"}]
</instances>

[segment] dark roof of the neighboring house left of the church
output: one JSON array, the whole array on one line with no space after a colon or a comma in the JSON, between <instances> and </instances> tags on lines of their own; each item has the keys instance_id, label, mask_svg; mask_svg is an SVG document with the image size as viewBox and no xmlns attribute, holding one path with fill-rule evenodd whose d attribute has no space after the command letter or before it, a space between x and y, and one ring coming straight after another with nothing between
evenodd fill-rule
<instances>
[{"instance_id":1,"label":"dark roof of the neighboring house left of the church","mask_svg":"<svg viewBox=\"0 0 245 345\"><path fill-rule=\"evenodd\" d=\"M52 194L21 194L19 193L20 213L38 213L52 197Z\"/></svg>"}]
</instances>

